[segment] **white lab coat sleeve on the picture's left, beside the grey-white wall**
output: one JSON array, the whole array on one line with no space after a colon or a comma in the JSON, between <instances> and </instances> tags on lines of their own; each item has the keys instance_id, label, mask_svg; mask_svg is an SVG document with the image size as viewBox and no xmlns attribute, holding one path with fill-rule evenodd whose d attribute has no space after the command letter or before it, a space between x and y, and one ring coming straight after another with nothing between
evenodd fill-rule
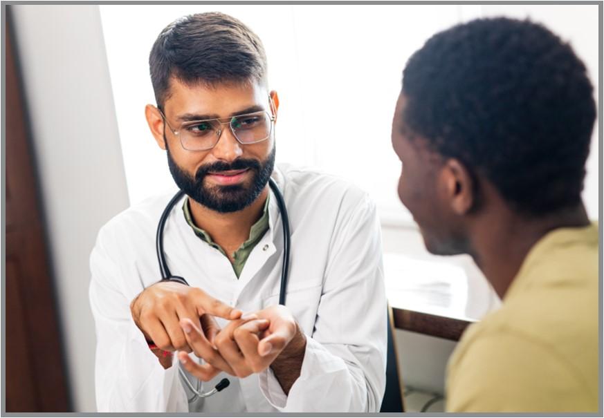
<instances>
[{"instance_id":1,"label":"white lab coat sleeve on the picture's left, beside the grey-white wall","mask_svg":"<svg viewBox=\"0 0 604 418\"><path fill-rule=\"evenodd\" d=\"M100 231L91 253L89 297L96 325L95 388L98 412L188 412L177 368L164 370L130 314L143 290L128 288L124 272ZM113 246L114 247L114 246ZM127 268L127 267L125 267Z\"/></svg>"}]
</instances>

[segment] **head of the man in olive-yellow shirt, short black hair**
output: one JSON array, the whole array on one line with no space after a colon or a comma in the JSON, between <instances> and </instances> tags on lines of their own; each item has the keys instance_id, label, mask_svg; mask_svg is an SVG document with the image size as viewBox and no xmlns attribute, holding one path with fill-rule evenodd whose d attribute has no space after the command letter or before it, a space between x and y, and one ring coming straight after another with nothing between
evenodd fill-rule
<instances>
[{"instance_id":1,"label":"head of the man in olive-yellow shirt, short black hair","mask_svg":"<svg viewBox=\"0 0 604 418\"><path fill-rule=\"evenodd\" d=\"M596 106L583 63L543 26L478 19L409 59L392 124L399 196L436 254L470 252L477 216L582 205Z\"/></svg>"}]
</instances>

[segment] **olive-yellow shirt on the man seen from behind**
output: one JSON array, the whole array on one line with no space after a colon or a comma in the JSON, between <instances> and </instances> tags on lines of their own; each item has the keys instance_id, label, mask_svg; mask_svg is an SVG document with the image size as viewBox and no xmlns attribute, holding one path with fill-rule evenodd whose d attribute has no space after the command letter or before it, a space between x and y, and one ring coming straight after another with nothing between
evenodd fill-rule
<instances>
[{"instance_id":1,"label":"olive-yellow shirt on the man seen from behind","mask_svg":"<svg viewBox=\"0 0 604 418\"><path fill-rule=\"evenodd\" d=\"M596 412L598 293L598 224L545 235L453 352L447 411Z\"/></svg>"}]
</instances>

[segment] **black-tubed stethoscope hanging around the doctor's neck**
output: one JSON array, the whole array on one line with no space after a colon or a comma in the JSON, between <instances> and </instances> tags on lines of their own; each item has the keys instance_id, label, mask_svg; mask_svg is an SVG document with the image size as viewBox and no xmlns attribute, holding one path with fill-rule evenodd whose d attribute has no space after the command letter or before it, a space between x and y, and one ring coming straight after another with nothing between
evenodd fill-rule
<instances>
[{"instance_id":1,"label":"black-tubed stethoscope hanging around the doctor's neck","mask_svg":"<svg viewBox=\"0 0 604 418\"><path fill-rule=\"evenodd\" d=\"M291 234L289 231L289 217L287 216L287 209L285 207L285 200L279 187L272 178L268 179L268 185L271 187L271 190L275 194L275 198L277 199L277 206L279 207L279 211L281 213L281 223L283 225L283 267L281 270L281 285L279 289L279 304L285 305L285 290L287 286L287 274L289 271L289 247ZM168 216L170 216L170 212L176 202L179 202L185 196L185 192L180 190L178 193L174 195L172 200L168 202L167 206L163 210L161 214L161 218L159 218L159 224L157 226L157 236L156 236L156 251L157 251L157 259L159 261L159 269L161 272L161 280L162 281L176 281L182 283L183 285L189 285L185 278L181 276L174 276L170 269L167 267L167 263L165 260L165 254L163 251L163 229L165 227L165 222L167 221ZM208 392L201 392L201 381L197 379L196 387L193 387L189 379L187 378L185 372L180 367L179 363L179 374L183 382L185 382L187 388L192 392L192 397L187 399L189 403L196 401L197 399L203 399L214 395L215 393L220 392L221 390L227 388L230 384L228 379L222 379L219 383L214 386L214 388Z\"/></svg>"}]
</instances>

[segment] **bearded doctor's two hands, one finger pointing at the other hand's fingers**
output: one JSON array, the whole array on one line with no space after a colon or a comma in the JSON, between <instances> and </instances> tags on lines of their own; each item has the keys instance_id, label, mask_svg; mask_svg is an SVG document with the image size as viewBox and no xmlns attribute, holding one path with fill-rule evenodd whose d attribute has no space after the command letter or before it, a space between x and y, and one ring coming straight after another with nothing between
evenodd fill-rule
<instances>
[{"instance_id":1,"label":"bearded doctor's two hands, one finger pointing at the other hand's fingers","mask_svg":"<svg viewBox=\"0 0 604 418\"><path fill-rule=\"evenodd\" d=\"M136 296L130 310L145 339L158 349L178 351L183 368L201 381L221 371L247 377L273 363L304 357L306 338L282 305L242 315L197 287L159 282ZM221 329L214 317L230 322ZM189 352L205 363L190 359ZM160 362L164 368L172 363Z\"/></svg>"}]
</instances>

